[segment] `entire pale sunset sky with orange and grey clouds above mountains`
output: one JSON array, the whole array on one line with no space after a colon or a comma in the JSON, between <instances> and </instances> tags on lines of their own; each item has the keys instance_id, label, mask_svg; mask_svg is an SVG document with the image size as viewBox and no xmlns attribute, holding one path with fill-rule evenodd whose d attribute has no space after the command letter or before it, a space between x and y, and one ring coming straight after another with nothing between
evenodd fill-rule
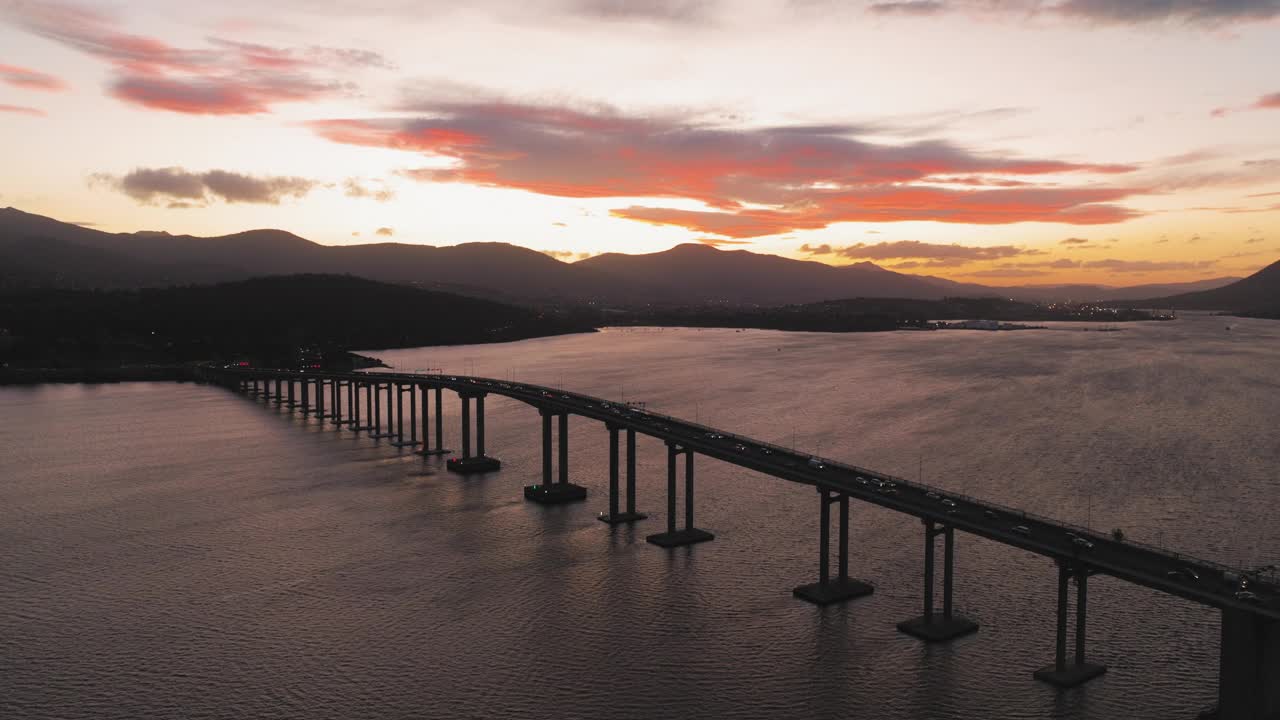
<instances>
[{"instance_id":1,"label":"entire pale sunset sky with orange and grey clouds above mountains","mask_svg":"<svg viewBox=\"0 0 1280 720\"><path fill-rule=\"evenodd\" d=\"M1280 0L0 0L0 206L986 284L1280 259Z\"/></svg>"}]
</instances>

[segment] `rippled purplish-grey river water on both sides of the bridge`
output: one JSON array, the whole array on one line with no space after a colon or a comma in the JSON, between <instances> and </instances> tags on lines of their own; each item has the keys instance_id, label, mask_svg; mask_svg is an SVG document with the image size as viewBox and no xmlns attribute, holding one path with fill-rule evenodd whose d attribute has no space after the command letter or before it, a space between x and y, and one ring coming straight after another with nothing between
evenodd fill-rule
<instances>
[{"instance_id":1,"label":"rippled purplish-grey river water on both sides of the bridge","mask_svg":"<svg viewBox=\"0 0 1280 720\"><path fill-rule=\"evenodd\" d=\"M1228 331L1226 327L1231 329ZM818 334L607 329L370 350L563 386L808 448L1208 560L1280 560L1280 323L1185 316L1080 332ZM454 406L445 442L457 447ZM0 717L1194 717L1217 612L1106 577L1073 691L1052 660L1050 561L957 536L982 629L925 646L922 527L854 503L851 574L818 609L812 488L701 457L709 543L663 551L666 457L639 446L650 519L609 528L608 434L571 421L585 503L521 497L539 418L486 404L503 469L443 460L221 388L0 388Z\"/></svg>"}]
</instances>

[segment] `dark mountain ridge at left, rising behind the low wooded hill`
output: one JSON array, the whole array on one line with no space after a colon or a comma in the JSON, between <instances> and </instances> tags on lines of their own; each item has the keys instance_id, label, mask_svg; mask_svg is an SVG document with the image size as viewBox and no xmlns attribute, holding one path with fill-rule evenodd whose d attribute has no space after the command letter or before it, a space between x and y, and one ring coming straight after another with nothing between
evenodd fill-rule
<instances>
[{"instance_id":1,"label":"dark mountain ridge at left, rising behind the low wooded hill","mask_svg":"<svg viewBox=\"0 0 1280 720\"><path fill-rule=\"evenodd\" d=\"M50 250L36 251L41 245ZM24 255L42 260L6 264L0 269L0 286L163 287L292 273L347 273L511 299L579 299L616 290L611 278L498 242L452 247L394 242L325 246L275 229L223 237L106 233L13 208L0 210L0 259Z\"/></svg>"}]
</instances>

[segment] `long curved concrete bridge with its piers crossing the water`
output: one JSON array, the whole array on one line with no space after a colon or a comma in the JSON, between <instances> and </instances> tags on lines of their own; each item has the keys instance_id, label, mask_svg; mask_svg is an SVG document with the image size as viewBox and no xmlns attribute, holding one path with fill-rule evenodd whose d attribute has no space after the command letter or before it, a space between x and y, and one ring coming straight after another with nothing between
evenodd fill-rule
<instances>
[{"instance_id":1,"label":"long curved concrete bridge with its piers crossing the water","mask_svg":"<svg viewBox=\"0 0 1280 720\"><path fill-rule=\"evenodd\" d=\"M197 377L353 432L367 433L372 438L387 438L397 447L415 448L422 455L452 455L447 468L460 474L489 473L502 466L485 448L485 397L495 395L525 402L541 415L543 455L541 482L525 487L524 493L527 500L547 505L586 498L586 488L568 482L568 416L599 420L609 433L608 511L600 512L599 519L609 524L646 518L636 511L636 434L658 438L667 446L667 527L666 532L650 534L646 541L660 547L714 539L712 533L694 523L694 459L699 455L812 486L818 495L818 578L795 588L792 594L817 605L844 602L874 592L869 583L850 575L850 501L913 515L923 524L920 615L897 626L924 642L946 642L978 630L975 621L954 611L956 532L1048 557L1057 566L1055 656L1052 662L1034 670L1033 676L1061 688L1079 685L1106 671L1105 666L1089 662L1085 655L1088 580L1092 575L1110 575L1216 607L1221 611L1219 702L1201 717L1280 717L1280 583L1271 575L1116 538L634 405L550 387L465 375L242 366L202 366ZM458 452L443 447L444 392L457 393L460 398L462 447ZM620 462L623 446L625 462ZM553 464L557 473L553 473ZM677 489L681 474L682 493ZM682 512L678 507L681 500ZM831 562L833 506L837 515L835 568ZM934 602L938 537L942 538L941 607ZM1069 643L1073 582L1075 621L1074 642Z\"/></svg>"}]
</instances>

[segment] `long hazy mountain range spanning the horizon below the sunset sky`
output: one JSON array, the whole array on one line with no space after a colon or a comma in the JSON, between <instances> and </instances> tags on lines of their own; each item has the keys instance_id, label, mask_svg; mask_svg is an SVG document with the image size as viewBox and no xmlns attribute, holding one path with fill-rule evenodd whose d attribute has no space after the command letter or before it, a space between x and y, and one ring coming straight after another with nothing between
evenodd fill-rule
<instances>
[{"instance_id":1,"label":"long hazy mountain range spanning the horizon below the sunset sky","mask_svg":"<svg viewBox=\"0 0 1280 720\"><path fill-rule=\"evenodd\" d=\"M502 242L447 247L397 242L325 246L278 229L221 237L106 233L14 208L0 210L0 287L166 287L296 273L343 273L507 301L620 305L783 305L846 297L982 296L1114 301L1212 291L1238 279L1124 288L988 287L895 273L872 263L833 266L692 243L645 255L605 252L563 263Z\"/></svg>"}]
</instances>

